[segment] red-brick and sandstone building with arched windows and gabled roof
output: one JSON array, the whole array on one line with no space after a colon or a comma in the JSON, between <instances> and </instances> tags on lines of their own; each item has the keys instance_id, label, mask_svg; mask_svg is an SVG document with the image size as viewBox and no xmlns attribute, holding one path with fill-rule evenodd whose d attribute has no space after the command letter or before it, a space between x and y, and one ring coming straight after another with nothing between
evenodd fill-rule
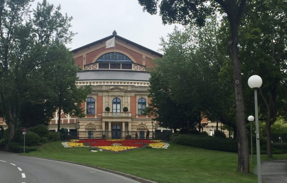
<instances>
[{"instance_id":1,"label":"red-brick and sandstone building with arched windows and gabled roof","mask_svg":"<svg viewBox=\"0 0 287 183\"><path fill-rule=\"evenodd\" d=\"M61 114L61 128L78 131L79 138L115 139L127 134L135 138L136 132L138 138L145 138L147 129L155 130L152 119L142 111L150 102L148 68L162 54L120 37L115 31L72 52L75 64L82 68L76 85L90 85L92 92L82 104L86 117ZM57 118L55 115L51 120L50 130L57 131Z\"/></svg>"}]
</instances>

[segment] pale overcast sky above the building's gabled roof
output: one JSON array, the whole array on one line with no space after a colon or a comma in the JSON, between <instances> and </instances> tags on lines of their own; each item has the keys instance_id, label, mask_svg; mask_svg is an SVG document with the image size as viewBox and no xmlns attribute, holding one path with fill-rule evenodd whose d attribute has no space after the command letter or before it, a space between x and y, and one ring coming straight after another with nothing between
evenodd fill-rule
<instances>
[{"instance_id":1,"label":"pale overcast sky above the building's gabled roof","mask_svg":"<svg viewBox=\"0 0 287 183\"><path fill-rule=\"evenodd\" d=\"M32 7L36 7L37 1ZM143 12L137 0L47 1L54 6L61 4L61 12L73 16L71 31L77 35L67 45L72 50L110 36L116 30L118 36L158 51L160 37L166 37L175 25L163 25L159 15Z\"/></svg>"}]
</instances>

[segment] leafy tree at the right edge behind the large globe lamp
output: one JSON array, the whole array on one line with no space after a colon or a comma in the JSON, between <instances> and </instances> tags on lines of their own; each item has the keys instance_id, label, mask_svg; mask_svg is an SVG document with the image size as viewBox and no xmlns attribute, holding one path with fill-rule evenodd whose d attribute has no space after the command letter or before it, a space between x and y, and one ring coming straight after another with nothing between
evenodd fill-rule
<instances>
[{"instance_id":1,"label":"leafy tree at the right edge behind the large globe lamp","mask_svg":"<svg viewBox=\"0 0 287 183\"><path fill-rule=\"evenodd\" d=\"M263 80L259 109L266 121L267 156L272 158L271 125L278 116L286 117L287 107L287 5L286 1L260 0L251 1L247 8L240 30L243 67Z\"/></svg>"}]
</instances>

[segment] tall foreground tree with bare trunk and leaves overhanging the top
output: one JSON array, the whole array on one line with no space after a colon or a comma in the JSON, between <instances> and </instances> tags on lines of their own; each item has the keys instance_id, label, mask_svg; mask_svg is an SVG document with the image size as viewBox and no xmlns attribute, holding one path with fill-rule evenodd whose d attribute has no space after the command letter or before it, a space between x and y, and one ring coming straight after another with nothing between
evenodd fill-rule
<instances>
[{"instance_id":1,"label":"tall foreground tree with bare trunk and leaves overhanging the top","mask_svg":"<svg viewBox=\"0 0 287 183\"><path fill-rule=\"evenodd\" d=\"M245 107L243 100L243 83L241 78L241 61L238 53L238 26L243 15L246 0L139 0L143 10L157 13L157 5L164 24L181 23L203 26L207 15L221 11L229 23L230 41L228 42L233 68L234 108L238 141L238 171L249 172L249 149L245 125Z\"/></svg>"}]
</instances>

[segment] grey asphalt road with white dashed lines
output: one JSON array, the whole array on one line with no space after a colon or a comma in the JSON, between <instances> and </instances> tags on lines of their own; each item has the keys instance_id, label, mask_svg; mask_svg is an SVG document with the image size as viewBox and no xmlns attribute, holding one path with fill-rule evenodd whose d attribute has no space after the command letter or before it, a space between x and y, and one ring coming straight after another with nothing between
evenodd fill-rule
<instances>
[{"instance_id":1,"label":"grey asphalt road with white dashed lines","mask_svg":"<svg viewBox=\"0 0 287 183\"><path fill-rule=\"evenodd\" d=\"M81 156L79 155L79 158ZM82 165L0 151L1 183L139 183Z\"/></svg>"}]
</instances>

